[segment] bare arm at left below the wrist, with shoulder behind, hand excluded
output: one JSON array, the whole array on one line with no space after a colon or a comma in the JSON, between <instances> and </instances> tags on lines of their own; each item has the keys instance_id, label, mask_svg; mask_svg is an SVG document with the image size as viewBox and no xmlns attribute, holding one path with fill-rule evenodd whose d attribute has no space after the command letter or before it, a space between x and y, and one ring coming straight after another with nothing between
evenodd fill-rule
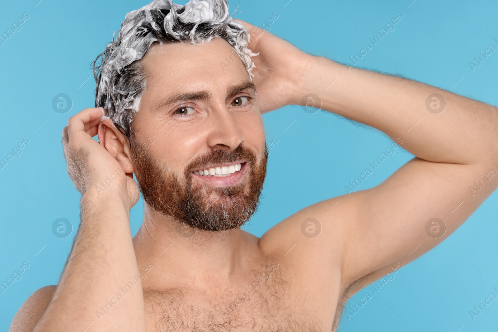
<instances>
[{"instance_id":1,"label":"bare arm at left below the wrist, with shoulder behind, hand excluded","mask_svg":"<svg viewBox=\"0 0 498 332\"><path fill-rule=\"evenodd\" d=\"M145 331L141 284L126 286L138 274L128 212L119 199L105 193L84 196L84 206L58 286L35 292L17 312L11 332L85 331L89 327L87 332ZM38 318L38 323L32 322Z\"/></svg>"}]
</instances>

